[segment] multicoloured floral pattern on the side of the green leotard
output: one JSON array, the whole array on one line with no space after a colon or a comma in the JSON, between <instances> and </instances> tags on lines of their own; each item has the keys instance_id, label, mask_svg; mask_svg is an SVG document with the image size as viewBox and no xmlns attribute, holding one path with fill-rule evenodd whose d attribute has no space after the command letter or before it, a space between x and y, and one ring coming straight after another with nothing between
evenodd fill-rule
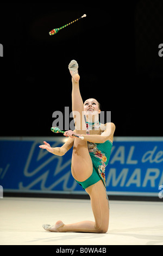
<instances>
[{"instance_id":1,"label":"multicoloured floral pattern on the side of the green leotard","mask_svg":"<svg viewBox=\"0 0 163 256\"><path fill-rule=\"evenodd\" d=\"M97 159L100 159L101 164L98 165L98 173L99 175L101 175L102 179L105 182L105 163L107 161L105 154L102 153L102 151L97 148L96 143L88 142L87 147L89 149L89 153L93 153L93 155L97 157Z\"/></svg>"}]
</instances>

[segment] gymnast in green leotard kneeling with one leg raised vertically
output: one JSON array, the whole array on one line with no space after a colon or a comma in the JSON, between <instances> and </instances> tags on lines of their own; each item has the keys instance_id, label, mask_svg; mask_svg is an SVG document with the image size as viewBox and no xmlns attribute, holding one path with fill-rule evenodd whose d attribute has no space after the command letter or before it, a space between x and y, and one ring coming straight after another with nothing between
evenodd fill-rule
<instances>
[{"instance_id":1,"label":"gymnast in green leotard kneeling with one leg raised vertically","mask_svg":"<svg viewBox=\"0 0 163 256\"><path fill-rule=\"evenodd\" d=\"M109 200L105 185L105 168L109 162L115 132L113 123L99 123L100 105L96 99L87 99L84 103L80 95L78 63L72 60L68 66L72 76L72 112L74 131L66 131L68 136L62 147L51 148L47 142L39 147L50 153L63 156L73 147L71 172L73 178L89 194L95 222L82 221L55 225L43 224L51 232L106 233L109 228ZM77 114L79 113L79 114ZM84 139L73 137L83 136Z\"/></svg>"}]
</instances>

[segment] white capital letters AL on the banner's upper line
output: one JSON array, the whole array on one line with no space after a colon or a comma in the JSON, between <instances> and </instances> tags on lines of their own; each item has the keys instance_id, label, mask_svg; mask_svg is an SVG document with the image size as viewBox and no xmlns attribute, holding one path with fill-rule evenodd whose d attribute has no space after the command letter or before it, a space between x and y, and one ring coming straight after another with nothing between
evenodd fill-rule
<instances>
[{"instance_id":1,"label":"white capital letters AL on the banner's upper line","mask_svg":"<svg viewBox=\"0 0 163 256\"><path fill-rule=\"evenodd\" d=\"M115 147L112 149L112 152L114 151ZM137 160L132 160L133 154L134 154L135 147L131 146L128 157L127 157L127 164L137 164ZM114 153L114 156L112 157L110 164L114 164L115 162L120 162L121 164L125 163L125 148L124 146L118 147L116 150L116 153Z\"/></svg>"}]
</instances>

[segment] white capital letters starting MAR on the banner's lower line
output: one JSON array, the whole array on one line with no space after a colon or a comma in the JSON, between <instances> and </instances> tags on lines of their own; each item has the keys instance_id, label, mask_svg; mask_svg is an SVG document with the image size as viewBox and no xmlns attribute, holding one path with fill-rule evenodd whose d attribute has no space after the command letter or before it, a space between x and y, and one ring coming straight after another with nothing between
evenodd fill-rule
<instances>
[{"instance_id":1,"label":"white capital letters starting MAR on the banner's lower line","mask_svg":"<svg viewBox=\"0 0 163 256\"><path fill-rule=\"evenodd\" d=\"M148 182L151 187L155 187L157 185L156 179L158 179L159 176L161 176L161 178L158 183L162 184L163 171L161 172L159 169L148 168L143 182L141 175L142 173L140 168L136 168L134 172L131 173L131 176L129 176L129 168L123 168L119 174L117 174L116 168L110 168L106 178L106 187L116 187L118 185L120 187L129 187L131 184L135 184L136 187L141 187L142 184L142 187L146 187Z\"/></svg>"}]
</instances>

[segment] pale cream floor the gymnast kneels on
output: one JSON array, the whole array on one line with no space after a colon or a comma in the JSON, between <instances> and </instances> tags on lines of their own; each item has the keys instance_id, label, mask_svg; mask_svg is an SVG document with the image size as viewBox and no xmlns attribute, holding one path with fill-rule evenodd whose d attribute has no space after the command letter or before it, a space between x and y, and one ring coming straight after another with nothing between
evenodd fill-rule
<instances>
[{"instance_id":1,"label":"pale cream floor the gymnast kneels on","mask_svg":"<svg viewBox=\"0 0 163 256\"><path fill-rule=\"evenodd\" d=\"M106 234L51 233L42 224L94 221L90 200L0 199L0 245L163 245L163 204L110 200Z\"/></svg>"}]
</instances>

